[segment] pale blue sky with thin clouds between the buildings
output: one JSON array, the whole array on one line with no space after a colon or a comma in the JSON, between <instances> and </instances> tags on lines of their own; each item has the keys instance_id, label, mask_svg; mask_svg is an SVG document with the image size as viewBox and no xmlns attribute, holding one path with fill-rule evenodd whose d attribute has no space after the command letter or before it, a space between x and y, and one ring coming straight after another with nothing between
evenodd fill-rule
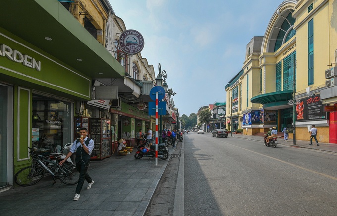
<instances>
[{"instance_id":1,"label":"pale blue sky with thin clouds between the buildings","mask_svg":"<svg viewBox=\"0 0 337 216\"><path fill-rule=\"evenodd\" d=\"M144 38L141 51L158 63L180 116L226 102L225 86L243 67L246 45L264 36L283 0L109 0L126 29Z\"/></svg>"}]
</instances>

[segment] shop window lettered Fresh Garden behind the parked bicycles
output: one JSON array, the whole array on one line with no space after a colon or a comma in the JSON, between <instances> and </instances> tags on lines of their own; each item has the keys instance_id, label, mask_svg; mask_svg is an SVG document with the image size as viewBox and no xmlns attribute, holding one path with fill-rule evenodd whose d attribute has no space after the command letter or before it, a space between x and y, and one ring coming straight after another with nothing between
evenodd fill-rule
<instances>
[{"instance_id":1,"label":"shop window lettered Fresh Garden behind the parked bicycles","mask_svg":"<svg viewBox=\"0 0 337 216\"><path fill-rule=\"evenodd\" d=\"M33 94L32 146L60 152L72 138L72 103Z\"/></svg>"}]
</instances>

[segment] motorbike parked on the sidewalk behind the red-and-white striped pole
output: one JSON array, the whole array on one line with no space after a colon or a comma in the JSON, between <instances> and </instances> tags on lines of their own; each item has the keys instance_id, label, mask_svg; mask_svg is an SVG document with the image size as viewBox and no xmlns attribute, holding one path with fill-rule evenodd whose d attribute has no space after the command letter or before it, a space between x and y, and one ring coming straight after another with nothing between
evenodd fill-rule
<instances>
[{"instance_id":1,"label":"motorbike parked on the sidewalk behind the red-and-white striped pole","mask_svg":"<svg viewBox=\"0 0 337 216\"><path fill-rule=\"evenodd\" d=\"M169 150L166 146L166 143L158 144L158 158L162 160L169 158ZM138 146L134 157L135 159L141 159L142 157L156 157L156 145L151 145L150 148L147 146L147 143Z\"/></svg>"}]
</instances>

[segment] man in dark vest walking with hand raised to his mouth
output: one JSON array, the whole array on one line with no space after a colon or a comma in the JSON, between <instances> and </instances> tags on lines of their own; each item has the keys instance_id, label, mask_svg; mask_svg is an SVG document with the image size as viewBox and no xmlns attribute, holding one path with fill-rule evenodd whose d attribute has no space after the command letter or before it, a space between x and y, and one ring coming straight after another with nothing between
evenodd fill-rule
<instances>
[{"instance_id":1,"label":"man in dark vest walking with hand raised to his mouth","mask_svg":"<svg viewBox=\"0 0 337 216\"><path fill-rule=\"evenodd\" d=\"M79 200L84 180L89 183L87 189L90 189L91 186L94 184L93 179L91 179L91 177L87 173L88 167L90 165L90 155L92 150L94 149L94 140L87 137L87 128L80 128L79 134L81 135L81 138L74 141L67 156L59 162L59 165L62 165L73 153L76 152L76 169L80 173L80 178L77 183L74 200Z\"/></svg>"}]
</instances>

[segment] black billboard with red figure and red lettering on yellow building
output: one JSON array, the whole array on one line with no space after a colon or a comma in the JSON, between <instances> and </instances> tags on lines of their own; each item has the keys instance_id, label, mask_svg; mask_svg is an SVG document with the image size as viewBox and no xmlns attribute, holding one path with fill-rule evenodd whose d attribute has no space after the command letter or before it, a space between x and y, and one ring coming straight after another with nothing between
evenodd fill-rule
<instances>
[{"instance_id":1,"label":"black billboard with red figure and red lettering on yellow building","mask_svg":"<svg viewBox=\"0 0 337 216\"><path fill-rule=\"evenodd\" d=\"M300 99L300 103L296 105L296 113L296 121L322 120L327 118L320 96Z\"/></svg>"}]
</instances>

